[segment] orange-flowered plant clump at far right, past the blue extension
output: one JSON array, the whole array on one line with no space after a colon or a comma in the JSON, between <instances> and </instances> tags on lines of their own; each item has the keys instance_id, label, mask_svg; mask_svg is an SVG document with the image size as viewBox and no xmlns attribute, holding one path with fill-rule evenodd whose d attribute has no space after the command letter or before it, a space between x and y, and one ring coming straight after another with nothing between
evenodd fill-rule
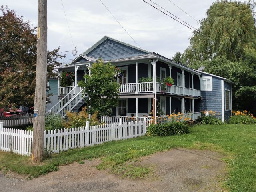
<instances>
[{"instance_id":1,"label":"orange-flowered plant clump at far right, past the blue extension","mask_svg":"<svg viewBox=\"0 0 256 192\"><path fill-rule=\"evenodd\" d=\"M232 111L232 116L229 119L230 124L255 124L256 118L248 111Z\"/></svg>"}]
</instances>

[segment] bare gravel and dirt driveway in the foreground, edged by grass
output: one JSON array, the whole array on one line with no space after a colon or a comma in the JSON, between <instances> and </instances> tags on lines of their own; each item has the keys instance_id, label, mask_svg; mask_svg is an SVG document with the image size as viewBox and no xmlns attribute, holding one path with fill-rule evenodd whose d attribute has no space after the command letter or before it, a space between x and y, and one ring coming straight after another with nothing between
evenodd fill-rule
<instances>
[{"instance_id":1,"label":"bare gravel and dirt driveway in the foreground, edged by grass","mask_svg":"<svg viewBox=\"0 0 256 192\"><path fill-rule=\"evenodd\" d=\"M221 180L226 164L220 154L211 151L172 149L144 157L137 164L154 167L151 178L132 180L120 178L109 170L97 170L100 160L85 160L61 166L57 172L28 180L7 177L0 173L0 191L6 192L77 192L77 191L133 191L133 192L198 192L226 191Z\"/></svg>"}]
</instances>

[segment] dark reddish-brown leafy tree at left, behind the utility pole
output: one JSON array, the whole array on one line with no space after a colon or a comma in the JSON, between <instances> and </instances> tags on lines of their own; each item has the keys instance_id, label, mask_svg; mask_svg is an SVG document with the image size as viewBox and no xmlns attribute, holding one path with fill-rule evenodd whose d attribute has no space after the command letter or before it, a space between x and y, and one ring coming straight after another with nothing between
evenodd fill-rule
<instances>
[{"instance_id":1,"label":"dark reddish-brown leafy tree at left, behind the utility pole","mask_svg":"<svg viewBox=\"0 0 256 192\"><path fill-rule=\"evenodd\" d=\"M30 22L14 10L0 11L0 108L33 106L36 82L37 37ZM47 76L56 78L54 67L60 65L59 47L48 51Z\"/></svg>"}]
</instances>

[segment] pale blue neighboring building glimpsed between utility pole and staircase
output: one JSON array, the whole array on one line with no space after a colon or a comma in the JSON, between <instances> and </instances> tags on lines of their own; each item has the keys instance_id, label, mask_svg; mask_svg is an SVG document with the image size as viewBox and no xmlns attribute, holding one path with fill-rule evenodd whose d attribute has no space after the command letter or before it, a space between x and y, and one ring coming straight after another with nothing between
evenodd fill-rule
<instances>
[{"instance_id":1,"label":"pale blue neighboring building glimpsed between utility pole and staircase","mask_svg":"<svg viewBox=\"0 0 256 192\"><path fill-rule=\"evenodd\" d=\"M58 103L58 79L57 78L47 78L47 88L52 96L50 96L51 103L46 104L46 111L50 110L56 103Z\"/></svg>"}]
</instances>

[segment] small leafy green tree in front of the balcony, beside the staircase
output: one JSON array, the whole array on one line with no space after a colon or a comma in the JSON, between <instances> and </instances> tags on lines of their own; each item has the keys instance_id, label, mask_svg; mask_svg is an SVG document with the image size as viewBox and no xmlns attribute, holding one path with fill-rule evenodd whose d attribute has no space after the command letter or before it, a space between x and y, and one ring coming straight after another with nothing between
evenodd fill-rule
<instances>
[{"instance_id":1,"label":"small leafy green tree in front of the balcony, beside the staircase","mask_svg":"<svg viewBox=\"0 0 256 192\"><path fill-rule=\"evenodd\" d=\"M119 92L115 66L110 62L104 64L103 60L99 59L89 70L91 76L86 74L84 76L86 81L78 82L78 85L84 89L83 96L89 106L88 112L90 114L98 112L99 117L112 115L112 108L118 104Z\"/></svg>"}]
</instances>

